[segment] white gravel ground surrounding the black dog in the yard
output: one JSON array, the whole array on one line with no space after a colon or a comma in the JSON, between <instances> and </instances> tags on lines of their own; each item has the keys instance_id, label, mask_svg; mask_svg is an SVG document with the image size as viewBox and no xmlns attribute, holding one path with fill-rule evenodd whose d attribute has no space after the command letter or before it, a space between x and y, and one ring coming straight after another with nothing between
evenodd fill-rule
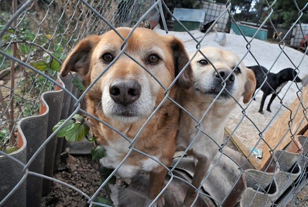
<instances>
[{"instance_id":1,"label":"white gravel ground surrounding the black dog in the yard","mask_svg":"<svg viewBox=\"0 0 308 207\"><path fill-rule=\"evenodd\" d=\"M165 30L155 29L156 32L166 35ZM203 37L203 33L194 30L191 31L193 36L199 41ZM168 35L174 35L180 38L186 47L189 54L196 51L196 42L191 38L186 32L174 32L170 31ZM246 66L257 65L256 61L260 65L265 66L268 70L273 73L277 73L284 68L295 68L299 69L299 77L303 78L308 75L308 57L301 53L300 51L277 44L262 41L259 39L253 39L250 45L247 46L247 41L250 41L250 37L246 37L247 41L241 35L236 34L226 34L227 40L224 46L219 45L214 41L216 38L216 33L209 33L201 42L201 47L215 46L225 50L231 50L237 54L240 58L243 58L243 62ZM248 53L250 48L251 54L254 56L256 61L253 59L252 55ZM280 48L282 47L282 49ZM282 52L283 51L283 52ZM294 67L295 66L295 67ZM301 88L302 85L298 84ZM296 92L298 88L295 83L288 82L287 85L279 93L279 97L283 98L283 104L289 106L290 103L297 97ZM270 96L267 97L264 107L264 115L260 114L260 102L263 92L260 90L256 93L256 101L251 101L248 104L241 103L241 107L246 109L247 118L243 118L242 109L237 106L236 109L232 111L227 120L226 126L232 130L235 129L235 135L242 141L247 149L250 147L262 149L264 142L260 140L259 133L262 132L264 136L267 130L275 123L277 118L279 118L284 112L285 108L281 107L280 99L276 97L271 105L272 113L266 111L267 103Z\"/></svg>"}]
</instances>

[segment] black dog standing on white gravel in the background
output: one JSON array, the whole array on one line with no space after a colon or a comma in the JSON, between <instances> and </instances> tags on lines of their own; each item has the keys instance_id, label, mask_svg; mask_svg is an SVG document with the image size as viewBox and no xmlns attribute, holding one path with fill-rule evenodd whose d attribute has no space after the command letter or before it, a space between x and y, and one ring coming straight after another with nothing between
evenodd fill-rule
<instances>
[{"instance_id":1,"label":"black dog standing on white gravel in the background","mask_svg":"<svg viewBox=\"0 0 308 207\"><path fill-rule=\"evenodd\" d=\"M277 94L281 91L282 87L287 84L288 81L294 80L294 78L297 76L297 72L292 69L292 68L285 68L278 73L268 73L268 70L263 67L263 66L249 66L247 67L251 69L255 75L255 80L256 80L256 86L255 89L260 88L262 83L265 80L265 74L267 73L267 81L266 83L261 87L261 90L263 91L263 96L261 100L261 106L259 113L263 114L263 106L264 106L264 101L268 95L273 93L269 105L267 107L267 111L271 111L271 104L274 100L274 98L277 96ZM262 71L263 70L263 71ZM301 82L301 79L299 77L295 78L295 82ZM255 92L255 91L254 91ZM254 95L254 93L253 93ZM253 98L255 100L255 98Z\"/></svg>"}]
</instances>

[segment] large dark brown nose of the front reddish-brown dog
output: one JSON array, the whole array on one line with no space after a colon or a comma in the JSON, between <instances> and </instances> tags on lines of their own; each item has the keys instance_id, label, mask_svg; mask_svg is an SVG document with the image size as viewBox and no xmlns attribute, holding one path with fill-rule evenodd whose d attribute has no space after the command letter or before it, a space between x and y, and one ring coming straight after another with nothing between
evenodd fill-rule
<instances>
[{"instance_id":1,"label":"large dark brown nose of the front reddish-brown dog","mask_svg":"<svg viewBox=\"0 0 308 207\"><path fill-rule=\"evenodd\" d=\"M116 103L126 106L140 97L141 86L134 80L115 80L109 86L109 93Z\"/></svg>"}]
</instances>

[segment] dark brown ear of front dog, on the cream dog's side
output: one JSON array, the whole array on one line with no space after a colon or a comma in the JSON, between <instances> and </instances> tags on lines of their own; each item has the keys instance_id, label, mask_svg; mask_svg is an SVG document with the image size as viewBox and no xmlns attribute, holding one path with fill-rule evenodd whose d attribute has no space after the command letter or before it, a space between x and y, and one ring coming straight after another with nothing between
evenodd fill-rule
<instances>
[{"instance_id":1,"label":"dark brown ear of front dog, on the cream dog's side","mask_svg":"<svg viewBox=\"0 0 308 207\"><path fill-rule=\"evenodd\" d=\"M173 38L171 40L171 48L173 50L175 76L177 76L184 68L184 66L188 63L189 57L186 53L183 43L179 39ZM189 88L192 86L192 83L193 73L191 66L188 65L182 75L178 78L177 85L182 88Z\"/></svg>"}]
</instances>

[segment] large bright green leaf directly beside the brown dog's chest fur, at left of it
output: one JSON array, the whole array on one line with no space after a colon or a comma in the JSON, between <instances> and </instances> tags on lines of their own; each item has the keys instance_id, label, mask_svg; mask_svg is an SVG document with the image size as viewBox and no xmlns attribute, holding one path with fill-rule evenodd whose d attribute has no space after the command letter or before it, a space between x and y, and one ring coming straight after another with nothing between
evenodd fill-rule
<instances>
[{"instance_id":1,"label":"large bright green leaf directly beside the brown dog's chest fur, at left of it","mask_svg":"<svg viewBox=\"0 0 308 207\"><path fill-rule=\"evenodd\" d=\"M81 123L74 123L73 127L65 132L65 139L67 141L80 141L82 138L89 133L90 128Z\"/></svg>"}]
</instances>

